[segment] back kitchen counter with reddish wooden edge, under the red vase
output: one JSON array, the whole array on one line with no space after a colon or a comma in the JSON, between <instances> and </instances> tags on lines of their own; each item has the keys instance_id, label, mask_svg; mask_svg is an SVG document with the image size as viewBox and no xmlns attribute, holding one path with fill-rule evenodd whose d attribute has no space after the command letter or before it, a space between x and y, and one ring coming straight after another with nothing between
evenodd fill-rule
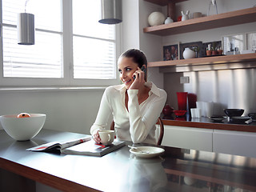
<instances>
[{"instance_id":1,"label":"back kitchen counter with reddish wooden edge, under the red vase","mask_svg":"<svg viewBox=\"0 0 256 192\"><path fill-rule=\"evenodd\" d=\"M256 122L251 122L250 124L232 124L226 120L223 122L213 122L209 118L190 118L189 116L176 119L162 118L162 122L166 126L187 126L212 130L235 130L256 133Z\"/></svg>"}]
</instances>

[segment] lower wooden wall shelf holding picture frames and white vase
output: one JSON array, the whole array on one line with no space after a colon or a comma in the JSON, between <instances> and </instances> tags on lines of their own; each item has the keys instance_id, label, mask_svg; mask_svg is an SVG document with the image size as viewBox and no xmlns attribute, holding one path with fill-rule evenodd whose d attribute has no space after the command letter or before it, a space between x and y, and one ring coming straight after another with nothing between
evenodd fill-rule
<instances>
[{"instance_id":1,"label":"lower wooden wall shelf holding picture frames and white vase","mask_svg":"<svg viewBox=\"0 0 256 192\"><path fill-rule=\"evenodd\" d=\"M206 58L187 58L181 60L149 62L148 67L154 66L191 66L191 65L208 65L208 64L222 64L234 62L255 62L256 54L231 54L216 57Z\"/></svg>"}]
</instances>

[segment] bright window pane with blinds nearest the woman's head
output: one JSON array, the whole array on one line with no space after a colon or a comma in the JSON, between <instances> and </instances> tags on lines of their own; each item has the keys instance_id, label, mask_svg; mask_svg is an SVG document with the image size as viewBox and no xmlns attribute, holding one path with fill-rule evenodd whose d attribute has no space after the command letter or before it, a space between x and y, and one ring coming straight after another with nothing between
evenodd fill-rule
<instances>
[{"instance_id":1,"label":"bright window pane with blinds nearest the woman's head","mask_svg":"<svg viewBox=\"0 0 256 192\"><path fill-rule=\"evenodd\" d=\"M100 0L73 0L74 78L116 78L115 26L98 22Z\"/></svg>"}]
</instances>

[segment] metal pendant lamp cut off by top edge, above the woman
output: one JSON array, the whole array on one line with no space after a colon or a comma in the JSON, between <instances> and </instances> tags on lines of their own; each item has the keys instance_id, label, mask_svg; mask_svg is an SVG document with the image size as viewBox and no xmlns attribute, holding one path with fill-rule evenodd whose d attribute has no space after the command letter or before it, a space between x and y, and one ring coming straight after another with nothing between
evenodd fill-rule
<instances>
[{"instance_id":1,"label":"metal pendant lamp cut off by top edge, above the woman","mask_svg":"<svg viewBox=\"0 0 256 192\"><path fill-rule=\"evenodd\" d=\"M122 0L102 0L102 19L104 24L122 22Z\"/></svg>"}]
</instances>

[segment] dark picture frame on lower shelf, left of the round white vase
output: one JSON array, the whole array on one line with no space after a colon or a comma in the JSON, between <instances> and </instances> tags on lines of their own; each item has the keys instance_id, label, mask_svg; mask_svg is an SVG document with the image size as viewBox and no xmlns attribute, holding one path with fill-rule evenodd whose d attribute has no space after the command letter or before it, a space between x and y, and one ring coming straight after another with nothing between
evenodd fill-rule
<instances>
[{"instance_id":1,"label":"dark picture frame on lower shelf, left of the round white vase","mask_svg":"<svg viewBox=\"0 0 256 192\"><path fill-rule=\"evenodd\" d=\"M179 42L170 46L163 46L162 54L163 54L163 61L178 60L180 57Z\"/></svg>"}]
</instances>

